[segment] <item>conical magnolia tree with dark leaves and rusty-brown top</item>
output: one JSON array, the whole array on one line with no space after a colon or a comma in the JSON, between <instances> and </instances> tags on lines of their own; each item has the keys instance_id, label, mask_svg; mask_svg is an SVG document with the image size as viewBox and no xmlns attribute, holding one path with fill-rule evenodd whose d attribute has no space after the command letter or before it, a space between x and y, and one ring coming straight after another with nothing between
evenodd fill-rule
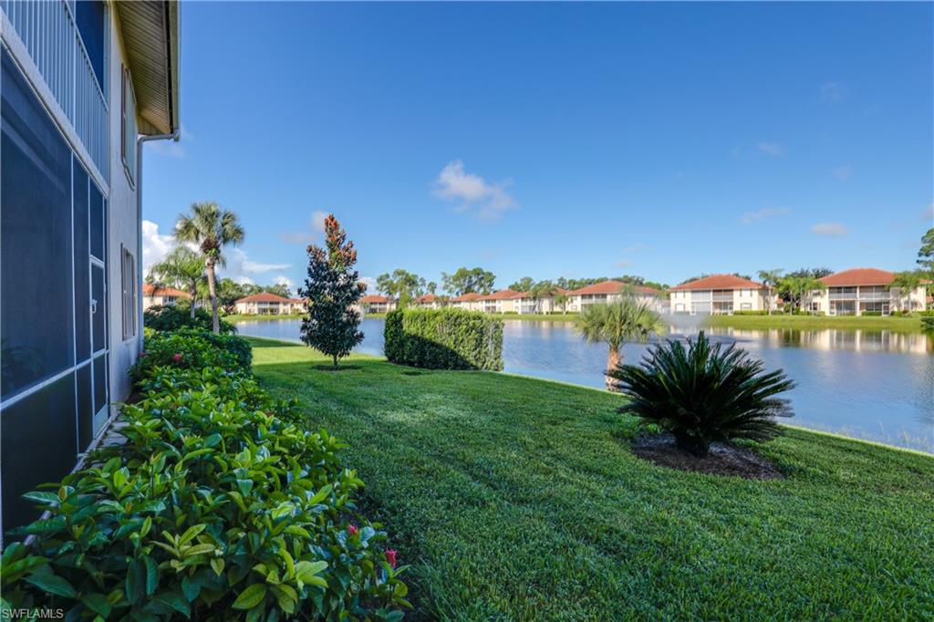
<instances>
[{"instance_id":1,"label":"conical magnolia tree with dark leaves and rusty-brown top","mask_svg":"<svg viewBox=\"0 0 934 622\"><path fill-rule=\"evenodd\" d=\"M334 361L343 359L363 340L356 304L366 286L354 269L357 251L333 214L324 220L324 248L308 247L308 277L300 295L306 299L302 341Z\"/></svg>"}]
</instances>

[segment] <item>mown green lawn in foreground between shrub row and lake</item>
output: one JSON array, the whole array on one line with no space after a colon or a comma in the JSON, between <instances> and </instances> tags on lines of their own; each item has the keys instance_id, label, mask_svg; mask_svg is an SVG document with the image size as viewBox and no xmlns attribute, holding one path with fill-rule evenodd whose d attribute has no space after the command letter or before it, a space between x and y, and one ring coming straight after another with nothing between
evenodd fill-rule
<instances>
[{"instance_id":1,"label":"mown green lawn in foreground between shrub row and lake","mask_svg":"<svg viewBox=\"0 0 934 622\"><path fill-rule=\"evenodd\" d=\"M934 458L789 429L787 478L635 458L619 397L253 339L254 370L345 439L416 617L919 619L934 611ZM828 404L828 407L834 407Z\"/></svg>"}]
</instances>

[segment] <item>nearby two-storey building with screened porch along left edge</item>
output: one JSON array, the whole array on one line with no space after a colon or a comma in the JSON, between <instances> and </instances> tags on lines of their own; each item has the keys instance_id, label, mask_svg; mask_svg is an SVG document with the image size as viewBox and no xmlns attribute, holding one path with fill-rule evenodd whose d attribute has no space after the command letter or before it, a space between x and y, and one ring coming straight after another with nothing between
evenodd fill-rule
<instances>
[{"instance_id":1,"label":"nearby two-storey building with screened porch along left edge","mask_svg":"<svg viewBox=\"0 0 934 622\"><path fill-rule=\"evenodd\" d=\"M0 0L0 73L2 532L130 395L142 142L178 135L177 2Z\"/></svg>"}]
</instances>

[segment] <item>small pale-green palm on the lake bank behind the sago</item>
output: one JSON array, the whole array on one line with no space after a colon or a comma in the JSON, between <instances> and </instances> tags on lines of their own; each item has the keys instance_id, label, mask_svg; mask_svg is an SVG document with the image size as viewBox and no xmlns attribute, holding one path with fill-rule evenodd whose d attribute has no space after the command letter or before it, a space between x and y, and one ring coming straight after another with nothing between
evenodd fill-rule
<instances>
[{"instance_id":1,"label":"small pale-green palm on the lake bank behind the sago","mask_svg":"<svg viewBox=\"0 0 934 622\"><path fill-rule=\"evenodd\" d=\"M590 343L609 346L607 372L616 369L622 360L619 350L628 341L644 342L653 332L664 330L661 316L645 303L625 297L611 304L590 304L577 319L577 330ZM606 388L616 389L616 380L603 376Z\"/></svg>"}]
</instances>

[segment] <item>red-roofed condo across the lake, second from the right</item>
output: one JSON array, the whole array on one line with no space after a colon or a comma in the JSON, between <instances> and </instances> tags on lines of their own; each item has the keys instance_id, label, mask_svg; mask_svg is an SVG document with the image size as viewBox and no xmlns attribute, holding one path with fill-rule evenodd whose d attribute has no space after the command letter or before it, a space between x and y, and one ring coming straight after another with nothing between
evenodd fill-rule
<instances>
[{"instance_id":1,"label":"red-roofed condo across the lake, second from the right","mask_svg":"<svg viewBox=\"0 0 934 622\"><path fill-rule=\"evenodd\" d=\"M692 316L762 311L768 309L769 289L740 276L704 276L673 287L669 290L669 302L672 314Z\"/></svg>"}]
</instances>

